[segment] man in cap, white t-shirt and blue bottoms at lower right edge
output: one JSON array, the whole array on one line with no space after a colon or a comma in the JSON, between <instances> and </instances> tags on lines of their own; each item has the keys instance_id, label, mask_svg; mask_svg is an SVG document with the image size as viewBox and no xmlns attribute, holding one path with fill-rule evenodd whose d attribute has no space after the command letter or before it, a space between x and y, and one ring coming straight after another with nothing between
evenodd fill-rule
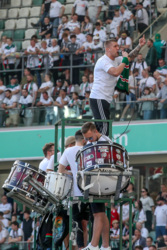
<instances>
[{"instance_id":1,"label":"man in cap, white t-shirt and blue bottoms at lower right edge","mask_svg":"<svg viewBox=\"0 0 167 250\"><path fill-rule=\"evenodd\" d=\"M167 205L165 204L165 199L160 197L157 200L157 207L154 212L154 222L156 229L156 239L163 236L164 240L167 240ZM154 228L154 224L152 225Z\"/></svg>"}]
</instances>

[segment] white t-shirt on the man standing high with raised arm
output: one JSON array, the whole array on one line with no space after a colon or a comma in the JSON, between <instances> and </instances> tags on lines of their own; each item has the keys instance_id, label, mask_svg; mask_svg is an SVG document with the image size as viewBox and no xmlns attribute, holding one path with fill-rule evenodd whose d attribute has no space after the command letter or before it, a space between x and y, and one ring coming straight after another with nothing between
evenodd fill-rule
<instances>
[{"instance_id":1,"label":"white t-shirt on the man standing high with raised arm","mask_svg":"<svg viewBox=\"0 0 167 250\"><path fill-rule=\"evenodd\" d=\"M111 60L107 55L98 59L94 68L94 82L90 98L103 99L112 102L117 77L110 75L108 70L117 67L122 62L122 57Z\"/></svg>"}]
</instances>

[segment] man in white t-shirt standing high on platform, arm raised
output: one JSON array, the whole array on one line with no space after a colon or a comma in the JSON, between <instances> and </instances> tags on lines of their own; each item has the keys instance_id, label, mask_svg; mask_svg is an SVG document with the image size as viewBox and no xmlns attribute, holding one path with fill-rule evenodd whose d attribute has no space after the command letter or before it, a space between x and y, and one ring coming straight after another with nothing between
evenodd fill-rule
<instances>
[{"instance_id":1,"label":"man in white t-shirt standing high on platform, arm raised","mask_svg":"<svg viewBox=\"0 0 167 250\"><path fill-rule=\"evenodd\" d=\"M94 83L90 94L90 106L95 119L110 119L110 103L113 100L115 86L129 60L138 55L145 44L145 38L139 40L139 45L129 53L123 51L118 57L119 45L115 38L105 42L105 54L99 58L94 68ZM108 135L109 126L105 122L98 122L100 133Z\"/></svg>"}]
</instances>

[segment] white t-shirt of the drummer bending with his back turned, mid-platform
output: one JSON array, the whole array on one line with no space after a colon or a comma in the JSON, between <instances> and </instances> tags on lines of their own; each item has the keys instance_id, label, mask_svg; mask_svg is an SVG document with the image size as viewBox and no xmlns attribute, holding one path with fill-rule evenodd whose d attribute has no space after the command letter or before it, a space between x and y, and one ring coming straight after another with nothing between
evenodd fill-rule
<instances>
[{"instance_id":1,"label":"white t-shirt of the drummer bending with his back turned, mid-platform","mask_svg":"<svg viewBox=\"0 0 167 250\"><path fill-rule=\"evenodd\" d=\"M59 163L62 164L63 166L67 167L68 165L70 165L71 167L71 172L73 174L74 196L82 196L82 193L79 190L78 185L77 185L76 177L77 177L78 168L77 168L77 163L75 161L75 156L81 148L82 148L81 146L74 146L74 147L67 148L59 160Z\"/></svg>"}]
</instances>

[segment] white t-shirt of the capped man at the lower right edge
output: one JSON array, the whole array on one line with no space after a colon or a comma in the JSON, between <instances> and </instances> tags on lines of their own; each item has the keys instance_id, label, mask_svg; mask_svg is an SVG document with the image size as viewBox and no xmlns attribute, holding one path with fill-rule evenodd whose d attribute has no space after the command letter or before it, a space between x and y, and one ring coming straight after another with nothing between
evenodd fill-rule
<instances>
[{"instance_id":1,"label":"white t-shirt of the capped man at the lower right edge","mask_svg":"<svg viewBox=\"0 0 167 250\"><path fill-rule=\"evenodd\" d=\"M167 225L167 205L157 206L154 212L156 216L156 226Z\"/></svg>"}]
</instances>

